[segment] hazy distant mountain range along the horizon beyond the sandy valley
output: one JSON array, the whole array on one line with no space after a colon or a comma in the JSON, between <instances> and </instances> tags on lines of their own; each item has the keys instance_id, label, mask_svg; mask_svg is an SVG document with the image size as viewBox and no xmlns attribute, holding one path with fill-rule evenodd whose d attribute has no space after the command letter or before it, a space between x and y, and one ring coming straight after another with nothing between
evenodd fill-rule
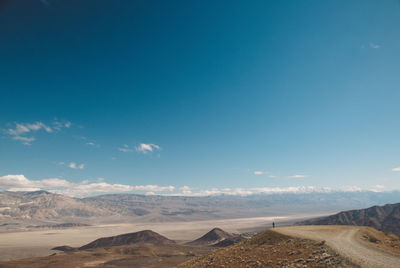
<instances>
[{"instance_id":1,"label":"hazy distant mountain range along the horizon beyond the sandy valley","mask_svg":"<svg viewBox=\"0 0 400 268\"><path fill-rule=\"evenodd\" d=\"M85 224L166 222L329 213L393 203L400 192L331 192L251 196L111 194L73 198L46 191L0 191L0 231Z\"/></svg>"}]
</instances>

